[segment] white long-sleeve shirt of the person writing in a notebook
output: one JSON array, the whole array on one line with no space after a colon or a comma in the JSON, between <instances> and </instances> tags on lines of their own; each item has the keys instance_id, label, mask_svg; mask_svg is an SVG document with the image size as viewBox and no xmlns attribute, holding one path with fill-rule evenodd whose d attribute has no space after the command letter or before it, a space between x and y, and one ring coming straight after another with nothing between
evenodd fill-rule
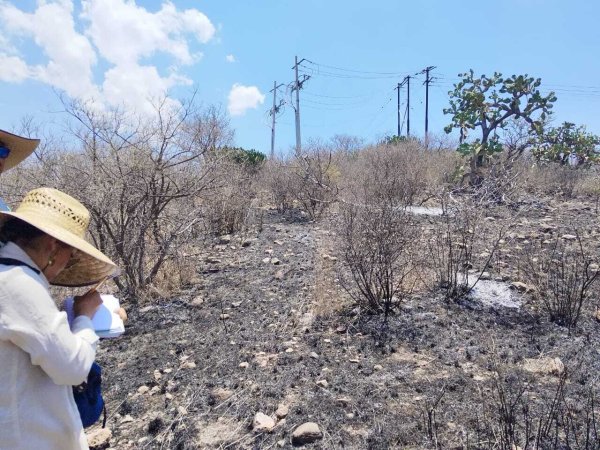
<instances>
[{"instance_id":1,"label":"white long-sleeve shirt of the person writing in a notebook","mask_svg":"<svg viewBox=\"0 0 600 450\"><path fill-rule=\"evenodd\" d=\"M0 257L37 268L12 242ZM0 450L88 448L72 387L86 380L97 342L89 318L69 328L43 274L0 265Z\"/></svg>"}]
</instances>

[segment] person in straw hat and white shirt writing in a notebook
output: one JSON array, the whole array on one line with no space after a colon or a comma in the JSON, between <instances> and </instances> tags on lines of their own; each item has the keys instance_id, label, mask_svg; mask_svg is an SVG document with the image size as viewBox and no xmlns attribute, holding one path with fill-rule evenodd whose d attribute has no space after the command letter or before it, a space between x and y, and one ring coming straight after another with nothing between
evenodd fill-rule
<instances>
[{"instance_id":1,"label":"person in straw hat and white shirt writing in a notebook","mask_svg":"<svg viewBox=\"0 0 600 450\"><path fill-rule=\"evenodd\" d=\"M76 297L69 327L49 285L87 286L116 273L85 240L89 219L81 203L50 188L0 213L0 449L88 448L72 386L95 359L91 317L101 299L95 290Z\"/></svg>"}]
</instances>

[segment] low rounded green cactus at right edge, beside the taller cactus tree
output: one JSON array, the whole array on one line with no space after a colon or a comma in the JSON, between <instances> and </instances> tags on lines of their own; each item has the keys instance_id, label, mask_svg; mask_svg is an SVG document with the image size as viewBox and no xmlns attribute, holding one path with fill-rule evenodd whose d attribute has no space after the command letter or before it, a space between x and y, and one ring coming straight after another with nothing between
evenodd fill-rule
<instances>
[{"instance_id":1,"label":"low rounded green cactus at right edge, beside the taller cactus tree","mask_svg":"<svg viewBox=\"0 0 600 450\"><path fill-rule=\"evenodd\" d=\"M562 165L572 163L584 166L596 163L600 161L600 136L587 132L584 126L564 122L541 136L533 149L533 155L538 161Z\"/></svg>"}]
</instances>

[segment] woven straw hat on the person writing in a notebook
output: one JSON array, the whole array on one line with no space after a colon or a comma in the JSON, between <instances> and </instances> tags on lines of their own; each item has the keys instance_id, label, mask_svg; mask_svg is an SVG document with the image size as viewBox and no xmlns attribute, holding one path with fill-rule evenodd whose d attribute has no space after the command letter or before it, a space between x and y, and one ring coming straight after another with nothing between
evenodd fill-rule
<instances>
[{"instance_id":1,"label":"woven straw hat on the person writing in a notebook","mask_svg":"<svg viewBox=\"0 0 600 450\"><path fill-rule=\"evenodd\" d=\"M52 284L87 286L117 274L117 265L85 240L89 211L64 192L34 189L25 195L15 211L0 212L0 217L21 219L78 250Z\"/></svg>"}]
</instances>

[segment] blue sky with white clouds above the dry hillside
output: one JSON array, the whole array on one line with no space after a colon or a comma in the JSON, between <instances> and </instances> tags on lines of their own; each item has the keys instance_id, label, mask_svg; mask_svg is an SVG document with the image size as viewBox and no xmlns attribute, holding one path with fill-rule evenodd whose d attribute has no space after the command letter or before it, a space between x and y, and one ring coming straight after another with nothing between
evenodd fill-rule
<instances>
[{"instance_id":1,"label":"blue sky with white clouds above the dry hillside","mask_svg":"<svg viewBox=\"0 0 600 450\"><path fill-rule=\"evenodd\" d=\"M554 91L554 123L600 134L600 2L595 0L0 0L0 128L33 117L56 133L60 96L127 107L196 93L218 106L235 145L269 154L335 135L366 143L398 128L397 84L412 75L410 131L443 135L458 74L528 74ZM400 91L402 134L407 91Z\"/></svg>"}]
</instances>

